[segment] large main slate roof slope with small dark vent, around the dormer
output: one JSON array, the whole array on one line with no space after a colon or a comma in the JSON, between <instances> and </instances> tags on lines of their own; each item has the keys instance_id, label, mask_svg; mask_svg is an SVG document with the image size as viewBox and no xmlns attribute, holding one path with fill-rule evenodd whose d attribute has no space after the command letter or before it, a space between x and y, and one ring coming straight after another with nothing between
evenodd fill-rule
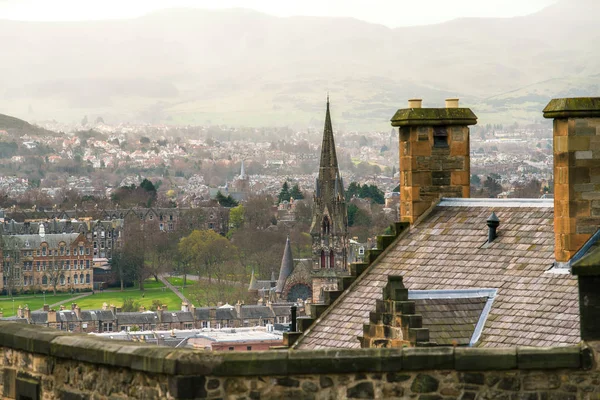
<instances>
[{"instance_id":1,"label":"large main slate roof slope with small dark vent, around the dormer","mask_svg":"<svg viewBox=\"0 0 600 400\"><path fill-rule=\"evenodd\" d=\"M413 290L498 289L477 346L577 343L577 281L545 273L554 261L552 202L443 203L392 244L295 348L358 348L357 336L388 275L398 274ZM483 246L492 211L500 219L499 236Z\"/></svg>"}]
</instances>

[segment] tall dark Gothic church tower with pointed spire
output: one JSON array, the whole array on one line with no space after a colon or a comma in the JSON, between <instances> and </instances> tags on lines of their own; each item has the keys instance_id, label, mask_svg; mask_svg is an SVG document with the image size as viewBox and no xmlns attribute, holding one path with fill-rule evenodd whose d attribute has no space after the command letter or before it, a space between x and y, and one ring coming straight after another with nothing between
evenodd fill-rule
<instances>
[{"instance_id":1,"label":"tall dark Gothic church tower with pointed spire","mask_svg":"<svg viewBox=\"0 0 600 400\"><path fill-rule=\"evenodd\" d=\"M313 253L313 302L320 302L322 290L336 289L337 278L347 275L348 271L348 213L344 181L340 176L335 153L329 96L310 235Z\"/></svg>"}]
</instances>

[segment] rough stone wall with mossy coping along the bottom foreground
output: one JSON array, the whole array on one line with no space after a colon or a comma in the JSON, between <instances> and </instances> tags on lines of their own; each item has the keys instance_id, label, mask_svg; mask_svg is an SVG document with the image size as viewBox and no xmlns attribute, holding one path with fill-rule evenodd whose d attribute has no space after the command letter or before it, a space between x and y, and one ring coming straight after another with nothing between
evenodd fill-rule
<instances>
[{"instance_id":1,"label":"rough stone wall with mossy coping along the bottom foreground","mask_svg":"<svg viewBox=\"0 0 600 400\"><path fill-rule=\"evenodd\" d=\"M211 353L0 322L0 345L4 398L600 398L595 343Z\"/></svg>"}]
</instances>

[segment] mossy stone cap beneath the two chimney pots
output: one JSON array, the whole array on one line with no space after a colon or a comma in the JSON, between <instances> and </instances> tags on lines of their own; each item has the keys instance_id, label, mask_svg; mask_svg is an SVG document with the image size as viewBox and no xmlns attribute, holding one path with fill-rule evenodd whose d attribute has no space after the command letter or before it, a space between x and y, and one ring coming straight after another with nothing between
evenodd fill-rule
<instances>
[{"instance_id":1,"label":"mossy stone cap beneath the two chimney pots","mask_svg":"<svg viewBox=\"0 0 600 400\"><path fill-rule=\"evenodd\" d=\"M470 108L403 108L391 119L392 126L475 125Z\"/></svg>"}]
</instances>

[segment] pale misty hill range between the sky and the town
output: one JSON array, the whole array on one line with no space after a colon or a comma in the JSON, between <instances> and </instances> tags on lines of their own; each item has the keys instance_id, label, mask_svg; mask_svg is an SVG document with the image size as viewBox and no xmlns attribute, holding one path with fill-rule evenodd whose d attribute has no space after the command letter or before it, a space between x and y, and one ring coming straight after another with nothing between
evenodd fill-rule
<instances>
[{"instance_id":1,"label":"pale misty hill range between the sky and the town","mask_svg":"<svg viewBox=\"0 0 600 400\"><path fill-rule=\"evenodd\" d=\"M458 96L481 122L598 95L600 2L389 29L349 18L163 10L131 20L0 21L0 109L30 120L388 129L410 97ZM31 114L30 110L36 110Z\"/></svg>"}]
</instances>

